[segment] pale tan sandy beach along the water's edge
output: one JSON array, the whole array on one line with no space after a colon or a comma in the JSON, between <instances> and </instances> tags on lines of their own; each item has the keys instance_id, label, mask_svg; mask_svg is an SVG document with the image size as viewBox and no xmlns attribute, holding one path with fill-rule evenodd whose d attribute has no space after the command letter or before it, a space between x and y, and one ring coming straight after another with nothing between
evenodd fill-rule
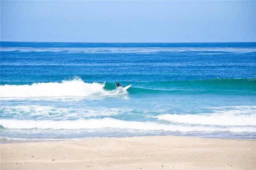
<instances>
[{"instance_id":1,"label":"pale tan sandy beach along the water's edge","mask_svg":"<svg viewBox=\"0 0 256 170\"><path fill-rule=\"evenodd\" d=\"M1 170L255 170L256 140L185 136L1 144Z\"/></svg>"}]
</instances>

